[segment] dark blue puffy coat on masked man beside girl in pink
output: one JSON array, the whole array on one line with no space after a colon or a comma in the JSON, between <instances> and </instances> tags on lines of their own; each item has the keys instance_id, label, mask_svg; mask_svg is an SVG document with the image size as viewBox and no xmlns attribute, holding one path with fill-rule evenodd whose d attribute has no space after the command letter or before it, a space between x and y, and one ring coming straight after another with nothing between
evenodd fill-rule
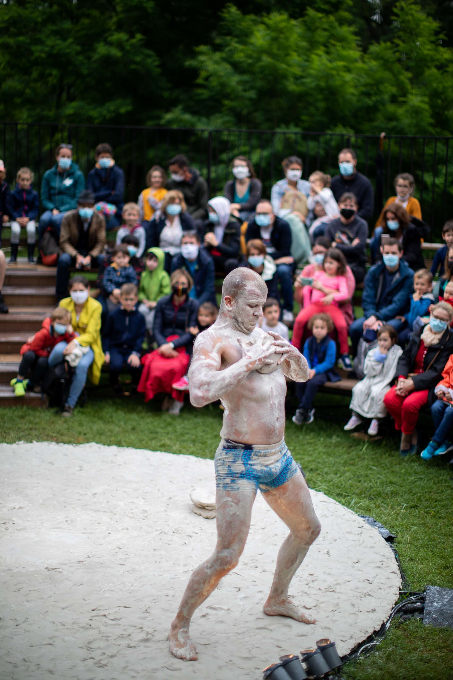
<instances>
[{"instance_id":1,"label":"dark blue puffy coat on masked man beside girl in pink","mask_svg":"<svg viewBox=\"0 0 453 680\"><path fill-rule=\"evenodd\" d=\"M410 296L414 292L414 272L404 260L399 260L391 286L382 295L384 262L371 267L365 276L362 295L363 316L365 319L376 316L381 321L389 321L404 314L410 308Z\"/></svg>"}]
</instances>

